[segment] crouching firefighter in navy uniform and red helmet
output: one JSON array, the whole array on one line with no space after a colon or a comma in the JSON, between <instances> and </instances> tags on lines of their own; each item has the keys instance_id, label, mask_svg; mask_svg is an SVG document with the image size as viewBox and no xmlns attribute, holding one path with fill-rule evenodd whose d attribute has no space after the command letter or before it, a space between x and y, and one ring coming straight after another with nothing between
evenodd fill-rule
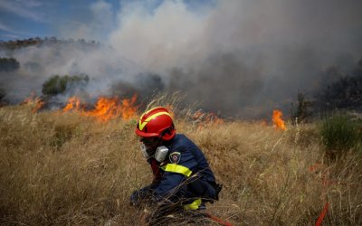
<instances>
[{"instance_id":1,"label":"crouching firefighter in navy uniform and red helmet","mask_svg":"<svg viewBox=\"0 0 362 226\"><path fill-rule=\"evenodd\" d=\"M162 206L158 213L167 214L177 208L203 210L205 202L218 200L222 185L216 184L202 151L185 135L176 134L167 108L145 112L139 118L136 134L154 178L152 184L131 194L131 204L155 202Z\"/></svg>"}]
</instances>

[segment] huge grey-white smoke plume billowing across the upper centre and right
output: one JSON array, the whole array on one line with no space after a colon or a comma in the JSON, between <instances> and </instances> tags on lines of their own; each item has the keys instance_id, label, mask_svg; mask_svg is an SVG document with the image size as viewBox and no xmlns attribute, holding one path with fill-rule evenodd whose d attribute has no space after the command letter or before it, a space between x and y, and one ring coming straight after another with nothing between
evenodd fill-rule
<instances>
[{"instance_id":1,"label":"huge grey-white smoke plume billowing across the upper centre and right","mask_svg":"<svg viewBox=\"0 0 362 226\"><path fill-rule=\"evenodd\" d=\"M326 85L321 71L348 70L362 57L361 9L353 0L129 4L110 43L189 102L255 117L289 109L299 90Z\"/></svg>"}]
</instances>

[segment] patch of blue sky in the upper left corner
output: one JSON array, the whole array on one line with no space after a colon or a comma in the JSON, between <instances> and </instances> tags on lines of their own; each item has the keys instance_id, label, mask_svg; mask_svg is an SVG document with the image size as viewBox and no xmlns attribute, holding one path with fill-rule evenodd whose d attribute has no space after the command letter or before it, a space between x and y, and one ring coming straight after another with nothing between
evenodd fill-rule
<instances>
[{"instance_id":1,"label":"patch of blue sky in the upper left corner","mask_svg":"<svg viewBox=\"0 0 362 226\"><path fill-rule=\"evenodd\" d=\"M97 10L95 7L110 10L110 15L105 16L114 19L113 16L119 10L119 1L1 0L0 39L6 41L36 36L58 37L62 35L63 28L78 30L89 25L94 19L93 12Z\"/></svg>"}]
</instances>

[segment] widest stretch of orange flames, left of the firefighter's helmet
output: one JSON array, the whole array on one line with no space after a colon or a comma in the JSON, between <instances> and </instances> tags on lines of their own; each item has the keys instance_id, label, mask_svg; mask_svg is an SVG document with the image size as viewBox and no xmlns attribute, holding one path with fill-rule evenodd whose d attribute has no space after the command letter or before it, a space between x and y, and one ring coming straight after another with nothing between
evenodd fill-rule
<instances>
[{"instance_id":1,"label":"widest stretch of orange flames, left of the firefighter's helmet","mask_svg":"<svg viewBox=\"0 0 362 226\"><path fill-rule=\"evenodd\" d=\"M130 99L105 98L100 97L94 108L87 110L85 104L76 97L68 99L67 105L62 108L62 112L75 111L82 116L90 116L100 121L109 121L112 118L129 119L135 116L138 107L136 106L137 95L133 95Z\"/></svg>"}]
</instances>

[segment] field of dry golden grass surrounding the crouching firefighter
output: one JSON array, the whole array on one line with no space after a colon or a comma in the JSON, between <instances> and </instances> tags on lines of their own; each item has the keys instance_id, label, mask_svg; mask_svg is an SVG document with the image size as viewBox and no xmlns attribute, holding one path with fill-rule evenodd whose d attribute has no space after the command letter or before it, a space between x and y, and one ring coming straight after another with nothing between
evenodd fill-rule
<instances>
[{"instance_id":1,"label":"field of dry golden grass surrounding the crouching firefighter","mask_svg":"<svg viewBox=\"0 0 362 226\"><path fill-rule=\"evenodd\" d=\"M207 204L214 216L233 225L313 225L328 202L323 225L362 224L361 157L329 161L316 123L284 132L260 121L175 119L224 184L220 201ZM143 225L143 210L129 206L129 194L152 180L136 123L0 108L0 224Z\"/></svg>"}]
</instances>

